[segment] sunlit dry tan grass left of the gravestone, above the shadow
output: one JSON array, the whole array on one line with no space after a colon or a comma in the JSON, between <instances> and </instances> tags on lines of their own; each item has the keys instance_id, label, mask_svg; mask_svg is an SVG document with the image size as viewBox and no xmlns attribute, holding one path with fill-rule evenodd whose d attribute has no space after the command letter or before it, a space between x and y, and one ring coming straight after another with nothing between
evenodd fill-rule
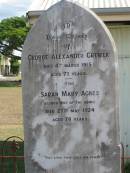
<instances>
[{"instance_id":1,"label":"sunlit dry tan grass left of the gravestone, above the shadow","mask_svg":"<svg viewBox=\"0 0 130 173\"><path fill-rule=\"evenodd\" d=\"M23 138L21 87L0 87L0 140Z\"/></svg>"}]
</instances>

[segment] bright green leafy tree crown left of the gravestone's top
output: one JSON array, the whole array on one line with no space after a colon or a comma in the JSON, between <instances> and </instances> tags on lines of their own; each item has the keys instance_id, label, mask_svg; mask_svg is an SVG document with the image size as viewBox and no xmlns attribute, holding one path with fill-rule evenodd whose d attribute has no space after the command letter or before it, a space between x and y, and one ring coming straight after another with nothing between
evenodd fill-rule
<instances>
[{"instance_id":1,"label":"bright green leafy tree crown left of the gravestone's top","mask_svg":"<svg viewBox=\"0 0 130 173\"><path fill-rule=\"evenodd\" d=\"M0 22L0 53L11 58L20 58L15 56L13 51L22 51L29 29L25 17L12 17L2 20Z\"/></svg>"}]
</instances>

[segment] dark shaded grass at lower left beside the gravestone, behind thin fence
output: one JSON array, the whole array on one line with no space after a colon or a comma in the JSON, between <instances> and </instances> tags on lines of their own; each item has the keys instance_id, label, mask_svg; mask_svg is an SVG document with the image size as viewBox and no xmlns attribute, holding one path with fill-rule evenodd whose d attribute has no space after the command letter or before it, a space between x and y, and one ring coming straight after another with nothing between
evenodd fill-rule
<instances>
[{"instance_id":1,"label":"dark shaded grass at lower left beside the gravestone, behind thin fence","mask_svg":"<svg viewBox=\"0 0 130 173\"><path fill-rule=\"evenodd\" d=\"M23 141L0 141L0 173L25 173L23 155Z\"/></svg>"}]
</instances>

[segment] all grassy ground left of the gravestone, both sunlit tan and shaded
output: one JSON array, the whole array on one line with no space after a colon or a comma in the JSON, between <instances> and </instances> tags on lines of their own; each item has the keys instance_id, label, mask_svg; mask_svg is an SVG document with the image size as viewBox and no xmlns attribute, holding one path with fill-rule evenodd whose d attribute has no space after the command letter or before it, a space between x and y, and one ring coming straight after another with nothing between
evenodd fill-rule
<instances>
[{"instance_id":1,"label":"all grassy ground left of the gravestone, both sunlit tan and shaded","mask_svg":"<svg viewBox=\"0 0 130 173\"><path fill-rule=\"evenodd\" d=\"M19 151L13 154L12 144L4 142L11 136L19 136L23 139L22 91L18 86L18 83L0 81L0 155L4 156L23 156L23 143L18 142ZM0 158L0 172L24 173L24 160Z\"/></svg>"}]
</instances>

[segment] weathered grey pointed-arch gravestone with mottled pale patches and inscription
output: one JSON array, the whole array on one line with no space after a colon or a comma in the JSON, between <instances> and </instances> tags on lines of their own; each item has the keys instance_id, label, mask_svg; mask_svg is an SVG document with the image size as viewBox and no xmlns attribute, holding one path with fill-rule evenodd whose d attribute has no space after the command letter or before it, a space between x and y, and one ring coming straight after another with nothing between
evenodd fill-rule
<instances>
[{"instance_id":1,"label":"weathered grey pointed-arch gravestone with mottled pale patches and inscription","mask_svg":"<svg viewBox=\"0 0 130 173\"><path fill-rule=\"evenodd\" d=\"M104 24L61 1L23 51L26 173L119 173L116 53Z\"/></svg>"}]
</instances>

